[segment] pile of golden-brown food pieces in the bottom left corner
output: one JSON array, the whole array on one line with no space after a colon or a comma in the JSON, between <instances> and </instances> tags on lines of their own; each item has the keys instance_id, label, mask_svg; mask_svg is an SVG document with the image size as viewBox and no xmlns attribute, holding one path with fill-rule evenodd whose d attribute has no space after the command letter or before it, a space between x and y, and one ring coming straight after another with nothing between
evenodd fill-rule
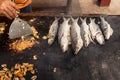
<instances>
[{"instance_id":1,"label":"pile of golden-brown food pieces in the bottom left corner","mask_svg":"<svg viewBox=\"0 0 120 80\"><path fill-rule=\"evenodd\" d=\"M28 72L35 74L34 64L23 63L15 64L11 69L7 68L6 64L2 64L2 70L0 70L0 80L26 80L25 76ZM37 76L33 76L32 80L36 80Z\"/></svg>"}]
</instances>

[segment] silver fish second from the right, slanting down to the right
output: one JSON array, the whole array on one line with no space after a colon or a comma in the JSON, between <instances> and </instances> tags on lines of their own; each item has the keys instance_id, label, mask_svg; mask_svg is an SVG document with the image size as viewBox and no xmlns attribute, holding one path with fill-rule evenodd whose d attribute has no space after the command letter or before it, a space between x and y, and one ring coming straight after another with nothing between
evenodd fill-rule
<instances>
[{"instance_id":1,"label":"silver fish second from the right, slanting down to the right","mask_svg":"<svg viewBox=\"0 0 120 80\"><path fill-rule=\"evenodd\" d=\"M95 19L91 19L90 18L90 32L92 34L92 39L96 39L96 41L100 44L100 45L104 45L105 44L105 40L104 40L104 36L99 28L99 25L95 23Z\"/></svg>"}]
</instances>

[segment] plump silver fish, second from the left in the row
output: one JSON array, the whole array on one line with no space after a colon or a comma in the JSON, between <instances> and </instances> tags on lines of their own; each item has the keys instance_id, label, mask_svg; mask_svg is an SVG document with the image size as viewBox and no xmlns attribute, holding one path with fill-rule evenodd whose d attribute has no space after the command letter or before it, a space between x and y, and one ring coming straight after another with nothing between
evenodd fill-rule
<instances>
[{"instance_id":1,"label":"plump silver fish, second from the left in the row","mask_svg":"<svg viewBox=\"0 0 120 80\"><path fill-rule=\"evenodd\" d=\"M70 38L70 25L68 22L70 18L66 19L63 17L63 23L59 27L58 31L58 42L62 49L62 52L66 52L69 46L69 38Z\"/></svg>"}]
</instances>

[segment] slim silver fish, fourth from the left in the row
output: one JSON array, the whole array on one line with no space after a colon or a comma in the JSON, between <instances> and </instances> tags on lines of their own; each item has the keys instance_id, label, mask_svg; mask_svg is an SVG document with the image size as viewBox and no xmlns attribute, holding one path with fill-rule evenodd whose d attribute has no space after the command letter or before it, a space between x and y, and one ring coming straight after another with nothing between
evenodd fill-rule
<instances>
[{"instance_id":1,"label":"slim silver fish, fourth from the left in the row","mask_svg":"<svg viewBox=\"0 0 120 80\"><path fill-rule=\"evenodd\" d=\"M86 18L85 19L80 18L80 20L82 21L81 28L84 31L83 36L84 36L84 39L85 39L85 47L87 47L90 44L90 42L93 42L93 40L91 38L91 33L90 33L89 26L86 23Z\"/></svg>"}]
</instances>

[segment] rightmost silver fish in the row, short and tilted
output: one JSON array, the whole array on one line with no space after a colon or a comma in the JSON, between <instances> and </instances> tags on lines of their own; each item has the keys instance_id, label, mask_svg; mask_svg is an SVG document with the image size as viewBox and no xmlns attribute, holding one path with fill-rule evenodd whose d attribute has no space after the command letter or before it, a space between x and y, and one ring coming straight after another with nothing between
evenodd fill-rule
<instances>
[{"instance_id":1,"label":"rightmost silver fish in the row, short and tilted","mask_svg":"<svg viewBox=\"0 0 120 80\"><path fill-rule=\"evenodd\" d=\"M101 29L105 36L105 39L108 40L110 36L113 34L113 29L110 27L110 24L104 19L104 17L100 17L101 19Z\"/></svg>"}]
</instances>

